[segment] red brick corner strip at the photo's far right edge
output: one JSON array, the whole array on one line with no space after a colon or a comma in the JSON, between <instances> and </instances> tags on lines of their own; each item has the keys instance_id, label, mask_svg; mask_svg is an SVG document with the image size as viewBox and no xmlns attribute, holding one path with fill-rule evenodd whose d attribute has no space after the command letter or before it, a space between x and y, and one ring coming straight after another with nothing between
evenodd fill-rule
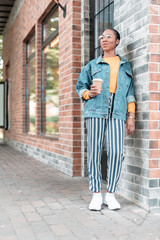
<instances>
[{"instance_id":1,"label":"red brick corner strip at the photo's far right edge","mask_svg":"<svg viewBox=\"0 0 160 240\"><path fill-rule=\"evenodd\" d=\"M150 178L160 178L160 6L151 0L150 5ZM158 187L155 185L155 187Z\"/></svg>"}]
</instances>

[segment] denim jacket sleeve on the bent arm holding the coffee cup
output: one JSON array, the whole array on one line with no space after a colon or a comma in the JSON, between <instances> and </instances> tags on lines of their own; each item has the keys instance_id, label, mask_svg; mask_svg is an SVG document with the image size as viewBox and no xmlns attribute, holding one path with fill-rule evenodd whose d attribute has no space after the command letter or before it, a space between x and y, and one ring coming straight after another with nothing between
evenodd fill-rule
<instances>
[{"instance_id":1,"label":"denim jacket sleeve on the bent arm holding the coffee cup","mask_svg":"<svg viewBox=\"0 0 160 240\"><path fill-rule=\"evenodd\" d=\"M84 100L83 99L84 92L90 90L91 85L92 85L92 78L90 73L90 65L88 63L82 69L76 85L76 91L82 100Z\"/></svg>"}]
</instances>

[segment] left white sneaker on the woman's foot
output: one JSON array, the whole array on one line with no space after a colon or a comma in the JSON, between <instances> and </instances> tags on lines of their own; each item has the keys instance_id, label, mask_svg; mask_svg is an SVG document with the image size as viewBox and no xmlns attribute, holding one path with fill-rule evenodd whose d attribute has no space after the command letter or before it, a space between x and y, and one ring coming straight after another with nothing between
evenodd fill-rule
<instances>
[{"instance_id":1,"label":"left white sneaker on the woman's foot","mask_svg":"<svg viewBox=\"0 0 160 240\"><path fill-rule=\"evenodd\" d=\"M92 200L89 204L89 210L99 211L102 208L103 200L101 193L93 193Z\"/></svg>"}]
</instances>

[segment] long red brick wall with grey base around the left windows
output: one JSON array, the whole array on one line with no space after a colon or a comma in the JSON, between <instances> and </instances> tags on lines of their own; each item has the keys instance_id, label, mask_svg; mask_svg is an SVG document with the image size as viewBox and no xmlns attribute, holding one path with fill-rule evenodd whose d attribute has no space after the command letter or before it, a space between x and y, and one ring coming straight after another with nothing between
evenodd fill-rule
<instances>
[{"instance_id":1,"label":"long red brick wall with grey base around the left windows","mask_svg":"<svg viewBox=\"0 0 160 240\"><path fill-rule=\"evenodd\" d=\"M22 2L22 1L21 1ZM3 60L4 67L10 63L11 125L5 132L5 141L28 152L37 159L47 162L69 175L81 175L81 110L75 91L81 69L81 1L67 1L67 15L59 8L59 137L47 138L40 135L41 109L41 22L51 10L54 1L19 0L11 13L5 29ZM64 5L65 1L61 0ZM25 133L25 43L35 31L36 39L36 134ZM5 79L4 71L4 79ZM41 156L39 153L41 152Z\"/></svg>"}]
</instances>

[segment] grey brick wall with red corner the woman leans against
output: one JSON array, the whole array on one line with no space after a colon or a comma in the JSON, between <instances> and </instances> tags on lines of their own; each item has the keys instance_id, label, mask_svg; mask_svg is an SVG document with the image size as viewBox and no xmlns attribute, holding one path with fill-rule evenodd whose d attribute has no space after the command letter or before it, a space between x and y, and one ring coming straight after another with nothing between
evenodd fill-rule
<instances>
[{"instance_id":1,"label":"grey brick wall with red corner the woman leans against","mask_svg":"<svg viewBox=\"0 0 160 240\"><path fill-rule=\"evenodd\" d=\"M119 192L151 211L160 210L159 1L115 1L118 53L130 60L135 84L136 130L125 138Z\"/></svg>"}]
</instances>

